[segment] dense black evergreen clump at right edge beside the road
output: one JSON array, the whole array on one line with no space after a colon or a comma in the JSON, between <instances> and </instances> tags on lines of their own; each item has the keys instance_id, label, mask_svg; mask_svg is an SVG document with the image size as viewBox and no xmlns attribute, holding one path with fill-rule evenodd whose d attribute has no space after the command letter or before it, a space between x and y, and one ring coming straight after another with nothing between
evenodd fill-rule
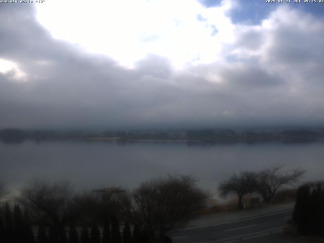
<instances>
[{"instance_id":1,"label":"dense black evergreen clump at right edge beside the road","mask_svg":"<svg viewBox=\"0 0 324 243\"><path fill-rule=\"evenodd\" d=\"M293 221L299 234L324 235L324 188L321 183L297 190Z\"/></svg>"}]
</instances>

